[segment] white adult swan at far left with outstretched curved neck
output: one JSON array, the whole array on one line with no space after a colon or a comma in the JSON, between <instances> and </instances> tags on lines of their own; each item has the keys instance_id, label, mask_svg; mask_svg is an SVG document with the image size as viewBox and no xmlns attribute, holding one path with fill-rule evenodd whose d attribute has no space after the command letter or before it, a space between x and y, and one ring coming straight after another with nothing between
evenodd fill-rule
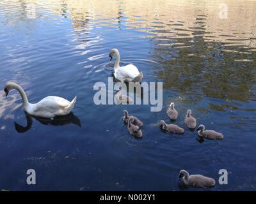
<instances>
[{"instance_id":1,"label":"white adult swan at far left with outstretched curved neck","mask_svg":"<svg viewBox=\"0 0 256 204\"><path fill-rule=\"evenodd\" d=\"M38 103L29 103L26 93L22 87L12 82L8 82L5 85L5 96L8 96L9 91L12 89L19 91L22 97L24 110L30 115L34 115L36 117L53 118L58 115L68 115L76 103L76 97L70 102L57 96L48 96Z\"/></svg>"}]
</instances>

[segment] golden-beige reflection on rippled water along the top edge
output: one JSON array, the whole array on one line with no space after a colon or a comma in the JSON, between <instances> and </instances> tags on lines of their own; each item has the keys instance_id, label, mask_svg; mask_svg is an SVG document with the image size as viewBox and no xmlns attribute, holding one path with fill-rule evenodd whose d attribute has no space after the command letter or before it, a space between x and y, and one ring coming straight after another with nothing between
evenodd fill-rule
<instances>
[{"instance_id":1,"label":"golden-beige reflection on rippled water along the top edge","mask_svg":"<svg viewBox=\"0 0 256 204\"><path fill-rule=\"evenodd\" d=\"M74 28L84 24L113 26L125 24L131 29L163 37L193 38L244 45L256 50L256 1L247 0L12 0L1 1L9 12L34 3L38 11L57 12L74 20ZM228 18L220 18L220 4L227 4ZM10 5L13 5L10 6ZM124 20L122 17L125 17ZM204 31L195 33L196 30ZM172 45L172 44L163 44ZM228 51L227 51L228 52Z\"/></svg>"}]
</instances>

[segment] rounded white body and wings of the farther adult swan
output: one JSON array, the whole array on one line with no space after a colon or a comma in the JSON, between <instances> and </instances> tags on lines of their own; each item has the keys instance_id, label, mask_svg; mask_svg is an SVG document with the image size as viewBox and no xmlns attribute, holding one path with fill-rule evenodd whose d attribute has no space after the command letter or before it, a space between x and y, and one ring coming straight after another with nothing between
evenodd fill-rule
<instances>
[{"instance_id":1,"label":"rounded white body and wings of the farther adult swan","mask_svg":"<svg viewBox=\"0 0 256 204\"><path fill-rule=\"evenodd\" d=\"M139 74L140 72L138 68L136 68L136 66L134 66L133 64L122 66L115 71L115 77L118 80L122 80L122 81L124 80L131 81L132 79L137 77Z\"/></svg>"}]
</instances>

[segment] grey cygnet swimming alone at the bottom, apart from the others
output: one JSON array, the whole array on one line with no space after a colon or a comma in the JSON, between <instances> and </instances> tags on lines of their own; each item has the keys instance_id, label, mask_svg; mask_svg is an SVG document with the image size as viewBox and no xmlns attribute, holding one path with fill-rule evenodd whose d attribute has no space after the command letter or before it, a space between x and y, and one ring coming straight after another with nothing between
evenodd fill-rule
<instances>
[{"instance_id":1,"label":"grey cygnet swimming alone at the bottom, apart from the others","mask_svg":"<svg viewBox=\"0 0 256 204\"><path fill-rule=\"evenodd\" d=\"M215 180L203 175L189 175L188 171L180 170L180 179L188 187L213 187Z\"/></svg>"}]
</instances>

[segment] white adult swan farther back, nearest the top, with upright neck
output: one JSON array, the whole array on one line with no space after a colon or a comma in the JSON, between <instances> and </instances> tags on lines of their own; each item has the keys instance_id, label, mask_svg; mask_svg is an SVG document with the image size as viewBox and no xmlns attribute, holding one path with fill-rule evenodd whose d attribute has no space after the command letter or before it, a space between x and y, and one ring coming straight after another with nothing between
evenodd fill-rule
<instances>
[{"instance_id":1,"label":"white adult swan farther back, nearest the top, with upright neck","mask_svg":"<svg viewBox=\"0 0 256 204\"><path fill-rule=\"evenodd\" d=\"M143 78L142 72L139 72L138 68L133 64L128 64L126 66L120 66L120 54L116 48L112 49L109 52L110 60L113 59L113 55L116 54L116 62L115 62L115 73L114 76L121 82L141 82Z\"/></svg>"}]
</instances>

